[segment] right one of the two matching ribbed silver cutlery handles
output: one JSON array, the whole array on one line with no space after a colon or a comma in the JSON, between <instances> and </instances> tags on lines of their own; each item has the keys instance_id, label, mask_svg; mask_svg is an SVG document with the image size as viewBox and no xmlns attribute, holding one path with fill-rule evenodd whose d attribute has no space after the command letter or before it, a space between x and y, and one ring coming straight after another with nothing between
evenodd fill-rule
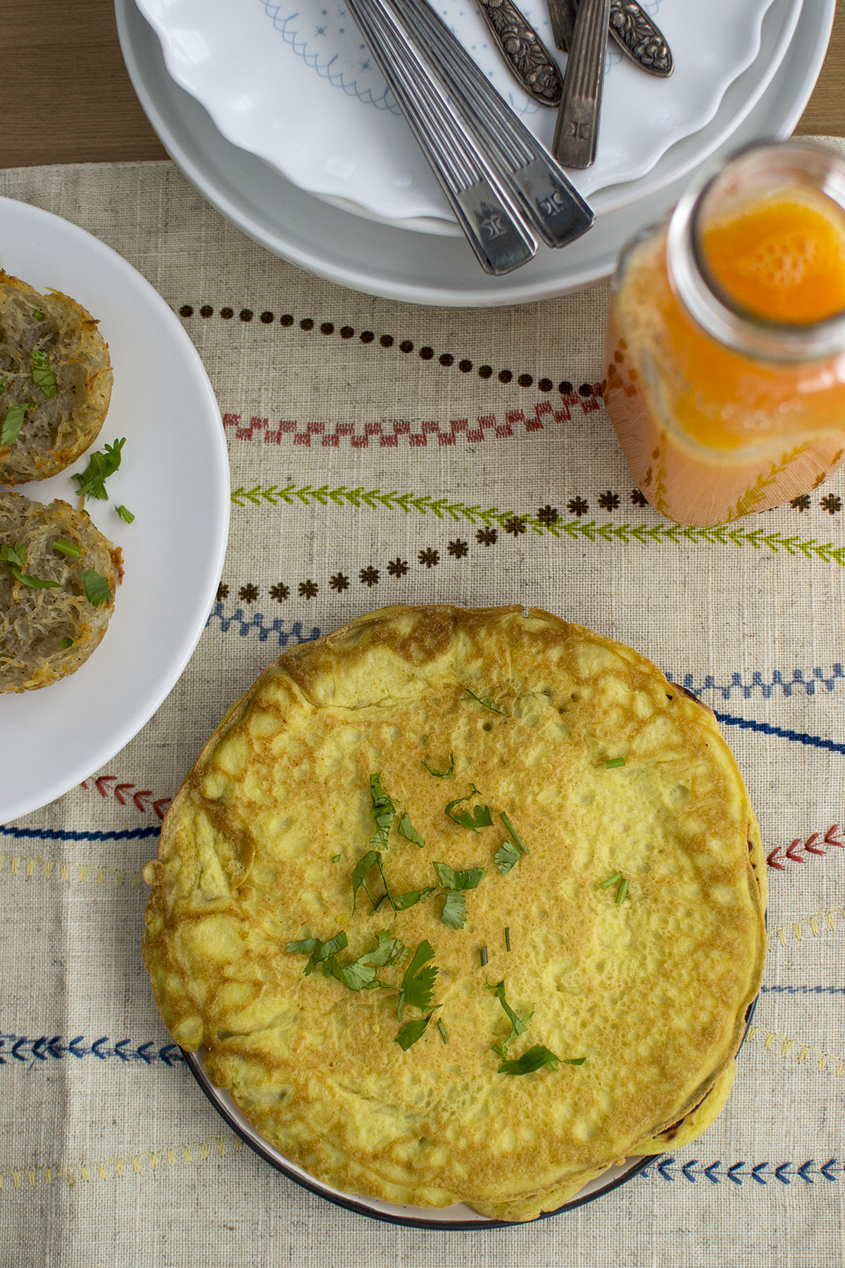
<instances>
[{"instance_id":1,"label":"right one of the two matching ribbed silver cutlery handles","mask_svg":"<svg viewBox=\"0 0 845 1268\"><path fill-rule=\"evenodd\" d=\"M593 212L560 164L492 89L464 46L427 0L372 0L400 15L429 49L448 96L474 133L507 193L549 246L566 246L593 223Z\"/></svg>"}]
</instances>

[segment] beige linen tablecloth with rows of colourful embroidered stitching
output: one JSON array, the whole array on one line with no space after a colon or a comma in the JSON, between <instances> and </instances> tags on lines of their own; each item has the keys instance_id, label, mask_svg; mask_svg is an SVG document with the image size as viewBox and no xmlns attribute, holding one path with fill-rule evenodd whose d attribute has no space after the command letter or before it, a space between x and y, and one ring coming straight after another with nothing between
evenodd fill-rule
<instances>
[{"instance_id":1,"label":"beige linen tablecloth with rows of colourful embroidered stitching","mask_svg":"<svg viewBox=\"0 0 845 1268\"><path fill-rule=\"evenodd\" d=\"M607 287L494 311L372 299L272 257L167 162L5 171L0 193L103 238L180 314L233 488L217 602L170 697L104 770L0 828L0 1264L841 1268L845 477L727 530L645 506L600 399ZM701 695L772 889L716 1125L589 1206L476 1232L350 1213L242 1146L139 952L141 867L227 706L295 643L441 601L546 607Z\"/></svg>"}]
</instances>

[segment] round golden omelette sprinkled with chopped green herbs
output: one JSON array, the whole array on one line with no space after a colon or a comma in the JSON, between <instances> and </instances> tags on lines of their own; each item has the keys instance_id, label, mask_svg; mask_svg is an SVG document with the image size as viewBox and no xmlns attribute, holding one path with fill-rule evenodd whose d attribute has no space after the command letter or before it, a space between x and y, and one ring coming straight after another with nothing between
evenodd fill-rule
<instances>
[{"instance_id":1,"label":"round golden omelette sprinkled with chopped green herbs","mask_svg":"<svg viewBox=\"0 0 845 1268\"><path fill-rule=\"evenodd\" d=\"M388 607L286 652L146 875L162 1016L267 1140L499 1220L703 1131L765 955L713 714L538 610Z\"/></svg>"}]
</instances>

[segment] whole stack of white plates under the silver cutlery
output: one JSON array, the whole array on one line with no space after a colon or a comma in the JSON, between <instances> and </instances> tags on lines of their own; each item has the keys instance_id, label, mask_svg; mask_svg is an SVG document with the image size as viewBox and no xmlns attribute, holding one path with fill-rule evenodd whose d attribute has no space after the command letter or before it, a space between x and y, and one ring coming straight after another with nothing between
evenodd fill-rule
<instances>
[{"instance_id":1,"label":"whole stack of white plates under the silver cutlery","mask_svg":"<svg viewBox=\"0 0 845 1268\"><path fill-rule=\"evenodd\" d=\"M440 0L546 143L554 112L512 81L474 4ZM545 0L523 10L551 46ZM788 136L818 75L835 0L650 0L675 58L663 80L608 52L599 153L571 172L597 219L571 246L485 276L342 0L117 0L134 89L168 153L275 254L394 299L524 303L607 276L715 155ZM561 55L561 66L565 56Z\"/></svg>"}]
</instances>

